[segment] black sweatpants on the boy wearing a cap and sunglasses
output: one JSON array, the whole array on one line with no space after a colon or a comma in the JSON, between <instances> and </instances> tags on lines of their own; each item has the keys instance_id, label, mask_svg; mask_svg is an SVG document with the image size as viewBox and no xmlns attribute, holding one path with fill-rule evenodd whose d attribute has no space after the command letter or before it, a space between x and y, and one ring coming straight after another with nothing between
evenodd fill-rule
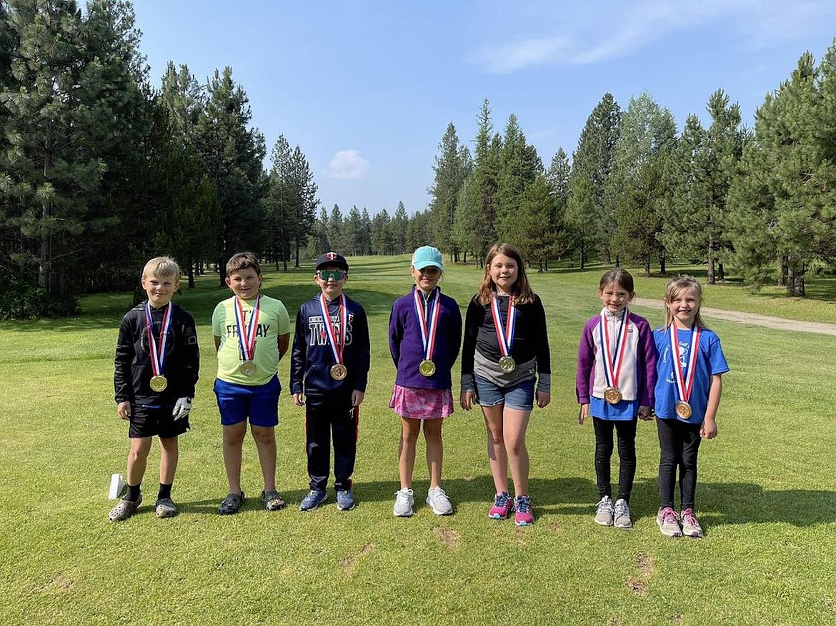
<instances>
[{"instance_id":1,"label":"black sweatpants on the boy wearing a cap and sunglasses","mask_svg":"<svg viewBox=\"0 0 836 626\"><path fill-rule=\"evenodd\" d=\"M305 398L305 446L308 451L310 488L328 487L331 436L334 436L334 487L350 491L357 457L359 407L351 397L307 396Z\"/></svg>"}]
</instances>

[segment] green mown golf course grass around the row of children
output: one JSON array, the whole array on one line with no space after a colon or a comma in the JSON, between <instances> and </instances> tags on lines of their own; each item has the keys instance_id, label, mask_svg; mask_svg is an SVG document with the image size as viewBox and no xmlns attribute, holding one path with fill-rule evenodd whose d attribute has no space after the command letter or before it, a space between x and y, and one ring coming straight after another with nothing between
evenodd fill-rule
<instances>
[{"instance_id":1,"label":"green mown golf course grass around the row of children","mask_svg":"<svg viewBox=\"0 0 836 626\"><path fill-rule=\"evenodd\" d=\"M658 443L644 422L635 530L599 528L594 435L591 425L577 424L573 372L583 323L599 310L602 270L533 274L548 313L554 386L553 403L535 411L528 431L537 522L519 529L487 519L492 482L478 410L456 411L445 426L444 486L455 515L439 518L423 505L419 443L420 505L415 517L398 519L391 507L400 425L387 407L395 371L385 333L392 300L410 286L409 260L350 261L346 291L370 313L372 335L354 512L337 511L333 497L318 511L298 512L307 487L303 411L283 394L278 481L288 509L258 506L257 458L247 440L243 482L252 500L237 516L217 515L226 480L209 318L228 293L217 276L178 300L198 323L202 367L193 430L181 438L174 488L181 514L169 520L150 512L156 445L146 504L126 523L106 520L110 474L125 472L128 450L112 372L130 295L85 297L75 320L0 326L0 623L836 622L836 415L827 400L836 391L829 357L836 337L712 322L732 371L719 437L701 449L697 502L706 538L658 533ZM311 274L310 266L268 271L265 290L293 316L316 291ZM660 298L665 278L635 275L638 295ZM451 267L443 289L465 306L480 277L472 266ZM706 300L836 321L831 286L821 290L821 301L786 302L717 285ZM637 310L653 325L661 321L660 310ZM286 386L287 361L280 377Z\"/></svg>"}]
</instances>

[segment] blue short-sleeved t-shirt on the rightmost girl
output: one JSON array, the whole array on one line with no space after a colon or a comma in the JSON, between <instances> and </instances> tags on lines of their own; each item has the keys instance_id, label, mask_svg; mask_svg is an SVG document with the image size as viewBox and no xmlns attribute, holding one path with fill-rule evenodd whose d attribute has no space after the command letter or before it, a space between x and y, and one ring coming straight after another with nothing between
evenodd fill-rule
<instances>
[{"instance_id":1,"label":"blue short-sleeved t-shirt on the rightmost girl","mask_svg":"<svg viewBox=\"0 0 836 626\"><path fill-rule=\"evenodd\" d=\"M688 361L691 358L691 332L677 331L676 338L679 342L680 362L682 365L682 376L688 376ZM700 331L700 344L697 346L696 372L694 385L691 389L691 397L688 404L691 405L691 417L682 420L676 415L676 401L679 400L676 391L676 375L674 372L674 358L670 350L670 329L657 328L653 331L653 342L656 346L656 403L654 411L656 417L663 420L678 419L681 422L690 424L701 424L706 417L708 407L708 390L711 386L711 376L725 374L729 371L726 355L720 346L720 338L714 331L703 328Z\"/></svg>"}]
</instances>

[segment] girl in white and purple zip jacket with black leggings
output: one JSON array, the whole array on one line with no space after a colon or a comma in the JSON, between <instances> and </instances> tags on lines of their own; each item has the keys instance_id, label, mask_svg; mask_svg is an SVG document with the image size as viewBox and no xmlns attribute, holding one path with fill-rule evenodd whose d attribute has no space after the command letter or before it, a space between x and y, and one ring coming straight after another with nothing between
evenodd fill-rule
<instances>
[{"instance_id":1,"label":"girl in white and purple zip jacket with black leggings","mask_svg":"<svg viewBox=\"0 0 836 626\"><path fill-rule=\"evenodd\" d=\"M635 477L637 417L652 419L656 352L650 324L627 305L635 297L633 276L616 268L601 278L598 297L604 308L584 326L578 349L575 388L578 422L592 416L595 428L595 476L599 502L595 522L625 530L630 519L630 492ZM613 428L619 442L619 491L613 503L609 460Z\"/></svg>"}]
</instances>

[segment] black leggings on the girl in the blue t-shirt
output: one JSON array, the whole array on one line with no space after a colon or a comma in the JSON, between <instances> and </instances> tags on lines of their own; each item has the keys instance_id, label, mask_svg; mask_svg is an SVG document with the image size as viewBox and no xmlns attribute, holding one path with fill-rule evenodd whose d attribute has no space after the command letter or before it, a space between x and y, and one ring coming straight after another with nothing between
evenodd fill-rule
<instances>
[{"instance_id":1,"label":"black leggings on the girl in the blue t-shirt","mask_svg":"<svg viewBox=\"0 0 836 626\"><path fill-rule=\"evenodd\" d=\"M676 468L680 471L681 511L694 508L696 456L700 451L700 424L656 418L659 431L659 499L663 507L674 506Z\"/></svg>"}]
</instances>

